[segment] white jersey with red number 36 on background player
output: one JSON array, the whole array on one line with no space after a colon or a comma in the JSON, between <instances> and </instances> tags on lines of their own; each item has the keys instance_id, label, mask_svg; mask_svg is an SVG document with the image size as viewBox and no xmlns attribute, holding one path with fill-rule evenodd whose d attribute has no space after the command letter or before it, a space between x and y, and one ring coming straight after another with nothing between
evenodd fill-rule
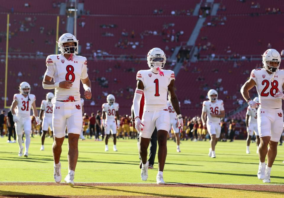
<instances>
[{"instance_id":1,"label":"white jersey with red number 36 on background player","mask_svg":"<svg viewBox=\"0 0 284 198\"><path fill-rule=\"evenodd\" d=\"M216 102L211 102L210 100L205 100L202 104L202 112L206 112L207 120L210 122L219 122L220 117L212 117L211 114L219 115L221 111L224 111L224 103L222 100L216 100Z\"/></svg>"}]
</instances>

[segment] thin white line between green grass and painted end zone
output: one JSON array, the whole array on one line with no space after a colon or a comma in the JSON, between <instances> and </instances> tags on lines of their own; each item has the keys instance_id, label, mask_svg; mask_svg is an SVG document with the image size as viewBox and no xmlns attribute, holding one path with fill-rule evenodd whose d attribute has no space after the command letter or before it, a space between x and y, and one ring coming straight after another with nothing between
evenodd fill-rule
<instances>
[{"instance_id":1,"label":"thin white line between green grass and painted end zone","mask_svg":"<svg viewBox=\"0 0 284 198\"><path fill-rule=\"evenodd\" d=\"M0 183L56 183L54 181L0 181ZM64 183L64 182L60 182ZM156 184L156 183L132 183L132 182L75 182L76 183L110 183L110 184ZM284 184L242 184L242 183L168 183L166 184L198 184L198 185L259 185L259 186L284 186Z\"/></svg>"}]
</instances>

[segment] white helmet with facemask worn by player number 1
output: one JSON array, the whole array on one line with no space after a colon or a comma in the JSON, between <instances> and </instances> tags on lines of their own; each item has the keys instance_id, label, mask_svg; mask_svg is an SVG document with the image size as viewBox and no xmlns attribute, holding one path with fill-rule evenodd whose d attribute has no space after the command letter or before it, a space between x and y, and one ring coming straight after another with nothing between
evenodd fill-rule
<instances>
[{"instance_id":1,"label":"white helmet with facemask worn by player number 1","mask_svg":"<svg viewBox=\"0 0 284 198\"><path fill-rule=\"evenodd\" d=\"M162 69L166 63L166 54L160 48L153 48L148 52L147 63L151 70L157 71L158 67Z\"/></svg>"}]
</instances>

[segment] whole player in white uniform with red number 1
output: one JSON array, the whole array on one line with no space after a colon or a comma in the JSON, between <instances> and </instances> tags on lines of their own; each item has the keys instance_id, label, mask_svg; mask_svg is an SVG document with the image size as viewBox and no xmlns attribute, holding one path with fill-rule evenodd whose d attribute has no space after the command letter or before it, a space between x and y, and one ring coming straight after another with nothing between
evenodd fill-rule
<instances>
[{"instance_id":1,"label":"whole player in white uniform with red number 1","mask_svg":"<svg viewBox=\"0 0 284 198\"><path fill-rule=\"evenodd\" d=\"M149 70L140 70L137 73L137 88L133 99L135 128L140 136L140 156L142 160L141 178L148 178L147 149L151 135L157 128L159 171L156 177L158 184L164 184L163 170L167 156L167 133L170 128L170 114L167 106L167 93L172 107L178 114L178 127L183 129L183 118L180 113L178 98L175 94L175 73L171 70L162 70L166 63L166 55L160 48L153 48L148 52L147 63ZM145 96L142 120L139 118L140 100Z\"/></svg>"}]
</instances>

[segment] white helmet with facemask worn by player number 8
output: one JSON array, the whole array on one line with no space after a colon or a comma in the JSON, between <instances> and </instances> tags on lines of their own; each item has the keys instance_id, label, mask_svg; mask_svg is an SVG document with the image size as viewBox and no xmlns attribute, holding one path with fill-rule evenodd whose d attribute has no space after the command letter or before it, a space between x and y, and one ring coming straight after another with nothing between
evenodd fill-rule
<instances>
[{"instance_id":1,"label":"white helmet with facemask worn by player number 8","mask_svg":"<svg viewBox=\"0 0 284 198\"><path fill-rule=\"evenodd\" d=\"M74 35L70 33L62 34L56 42L58 44L58 51L61 54L78 54L78 41ZM74 42L75 46L63 47L63 44L68 42Z\"/></svg>"}]
</instances>

